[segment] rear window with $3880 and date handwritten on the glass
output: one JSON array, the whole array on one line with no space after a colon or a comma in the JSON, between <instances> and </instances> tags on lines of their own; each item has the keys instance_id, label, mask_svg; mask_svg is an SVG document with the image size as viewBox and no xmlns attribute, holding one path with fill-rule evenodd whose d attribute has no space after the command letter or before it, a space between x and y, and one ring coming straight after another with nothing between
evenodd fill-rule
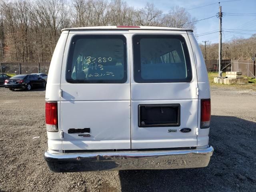
<instances>
[{"instance_id":1,"label":"rear window with $3880 and date handwritten on the glass","mask_svg":"<svg viewBox=\"0 0 256 192\"><path fill-rule=\"evenodd\" d=\"M123 35L76 35L72 38L67 82L124 83L126 69L126 38Z\"/></svg>"}]
</instances>

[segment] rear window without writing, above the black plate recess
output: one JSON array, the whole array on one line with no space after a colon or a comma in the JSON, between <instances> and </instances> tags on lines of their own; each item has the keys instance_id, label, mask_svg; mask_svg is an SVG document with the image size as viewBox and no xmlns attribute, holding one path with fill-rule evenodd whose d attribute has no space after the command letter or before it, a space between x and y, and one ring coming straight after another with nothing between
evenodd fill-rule
<instances>
[{"instance_id":1,"label":"rear window without writing, above the black plate recess","mask_svg":"<svg viewBox=\"0 0 256 192\"><path fill-rule=\"evenodd\" d=\"M190 82L192 71L185 39L180 35L134 35L134 81Z\"/></svg>"}]
</instances>

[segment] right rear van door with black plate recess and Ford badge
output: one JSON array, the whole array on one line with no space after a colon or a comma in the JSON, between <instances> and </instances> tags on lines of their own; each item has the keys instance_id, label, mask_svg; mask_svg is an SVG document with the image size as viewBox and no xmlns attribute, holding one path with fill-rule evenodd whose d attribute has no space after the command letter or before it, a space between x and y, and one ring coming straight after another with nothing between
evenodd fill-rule
<instances>
[{"instance_id":1,"label":"right rear van door with black plate recess and Ford badge","mask_svg":"<svg viewBox=\"0 0 256 192\"><path fill-rule=\"evenodd\" d=\"M197 144L197 74L186 31L131 31L132 149Z\"/></svg>"}]
</instances>

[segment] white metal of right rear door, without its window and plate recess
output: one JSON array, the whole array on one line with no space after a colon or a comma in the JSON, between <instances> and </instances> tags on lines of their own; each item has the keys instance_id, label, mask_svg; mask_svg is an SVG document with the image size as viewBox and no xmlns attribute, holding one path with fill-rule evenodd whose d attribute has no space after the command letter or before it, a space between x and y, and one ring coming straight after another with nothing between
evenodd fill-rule
<instances>
[{"instance_id":1,"label":"white metal of right rear door, without its window and plate recess","mask_svg":"<svg viewBox=\"0 0 256 192\"><path fill-rule=\"evenodd\" d=\"M132 33L134 30L131 31ZM138 33L137 33L138 32ZM137 34L152 34L155 32L136 31ZM132 107L132 149L136 148L175 148L197 146L196 128L198 127L198 95L196 94L197 74L194 56L188 35L186 32L159 32L157 35L180 35L186 41L189 59L192 70L192 80L190 82L155 82L138 83L134 80L134 53L130 54L131 62L131 107ZM154 37L153 37L154 38ZM159 37L158 37L159 38ZM130 46L141 44L140 42L130 42ZM134 51L134 48L133 48ZM143 58L142 58L143 59ZM162 59L162 58L161 58ZM151 65L151 63L149 64ZM145 65L146 66L146 65ZM161 64L156 64L157 68ZM180 105L180 125L179 126L139 126L139 105L158 105L158 104L179 104ZM190 128L190 132L181 132L182 128Z\"/></svg>"}]
</instances>

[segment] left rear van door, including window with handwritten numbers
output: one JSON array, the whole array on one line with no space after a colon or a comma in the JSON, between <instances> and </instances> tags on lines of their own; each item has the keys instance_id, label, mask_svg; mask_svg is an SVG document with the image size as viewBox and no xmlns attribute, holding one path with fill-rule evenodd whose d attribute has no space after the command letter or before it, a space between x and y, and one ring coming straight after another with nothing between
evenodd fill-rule
<instances>
[{"instance_id":1,"label":"left rear van door, including window with handwritten numbers","mask_svg":"<svg viewBox=\"0 0 256 192\"><path fill-rule=\"evenodd\" d=\"M70 31L61 76L63 150L130 148L128 31Z\"/></svg>"}]
</instances>

